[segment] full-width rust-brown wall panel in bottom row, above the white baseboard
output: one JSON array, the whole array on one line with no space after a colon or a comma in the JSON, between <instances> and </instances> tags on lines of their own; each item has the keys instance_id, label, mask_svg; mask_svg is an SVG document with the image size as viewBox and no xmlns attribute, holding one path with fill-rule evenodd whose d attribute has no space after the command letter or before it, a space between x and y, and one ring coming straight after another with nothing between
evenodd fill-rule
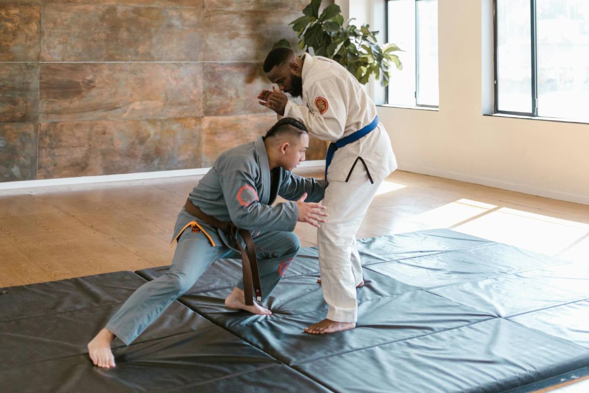
<instances>
[{"instance_id":1,"label":"full-width rust-brown wall panel in bottom row, above the white baseboard","mask_svg":"<svg viewBox=\"0 0 589 393\"><path fill-rule=\"evenodd\" d=\"M198 168L201 124L201 117L44 122L38 177Z\"/></svg>"}]
</instances>

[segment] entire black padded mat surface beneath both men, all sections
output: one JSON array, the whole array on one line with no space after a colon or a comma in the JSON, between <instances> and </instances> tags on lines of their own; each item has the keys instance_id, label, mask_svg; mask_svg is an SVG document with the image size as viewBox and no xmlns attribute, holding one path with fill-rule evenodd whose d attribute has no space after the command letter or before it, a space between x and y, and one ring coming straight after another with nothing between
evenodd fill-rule
<instances>
[{"instance_id":1,"label":"entire black padded mat surface beneath both men, all sections","mask_svg":"<svg viewBox=\"0 0 589 393\"><path fill-rule=\"evenodd\" d=\"M317 250L303 247L264 304L227 309L223 259L99 369L85 344L168 267L6 288L2 391L525 392L589 373L589 269L451 230L358 241L356 329L325 318ZM141 277L143 278L141 278Z\"/></svg>"}]
</instances>

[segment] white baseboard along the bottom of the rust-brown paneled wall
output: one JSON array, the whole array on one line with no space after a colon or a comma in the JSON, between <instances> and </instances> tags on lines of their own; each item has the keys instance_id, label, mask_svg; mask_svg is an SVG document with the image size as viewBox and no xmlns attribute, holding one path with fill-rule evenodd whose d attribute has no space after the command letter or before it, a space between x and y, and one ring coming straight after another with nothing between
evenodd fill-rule
<instances>
[{"instance_id":1,"label":"white baseboard along the bottom of the rust-brown paneled wall","mask_svg":"<svg viewBox=\"0 0 589 393\"><path fill-rule=\"evenodd\" d=\"M303 161L299 168L325 166L325 160ZM69 186L71 184L106 183L108 181L158 179L161 177L198 176L206 174L208 168L178 169L157 172L108 174L102 176L62 177L59 179L6 181L0 183L0 190L28 189L31 187Z\"/></svg>"}]
</instances>

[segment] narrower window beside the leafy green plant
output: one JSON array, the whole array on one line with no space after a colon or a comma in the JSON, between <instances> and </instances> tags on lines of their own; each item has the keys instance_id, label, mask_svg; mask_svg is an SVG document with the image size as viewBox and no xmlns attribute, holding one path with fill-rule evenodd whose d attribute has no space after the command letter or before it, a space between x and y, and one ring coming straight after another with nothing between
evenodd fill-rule
<instances>
[{"instance_id":1,"label":"narrower window beside the leafy green plant","mask_svg":"<svg viewBox=\"0 0 589 393\"><path fill-rule=\"evenodd\" d=\"M438 0L387 0L386 39L403 70L393 70L386 103L438 107Z\"/></svg>"}]
</instances>

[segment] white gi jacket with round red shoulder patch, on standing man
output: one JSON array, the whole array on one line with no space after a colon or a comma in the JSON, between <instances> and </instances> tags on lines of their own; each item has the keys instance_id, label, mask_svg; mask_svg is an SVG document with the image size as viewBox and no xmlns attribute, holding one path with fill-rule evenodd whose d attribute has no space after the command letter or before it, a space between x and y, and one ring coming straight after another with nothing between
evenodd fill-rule
<instances>
[{"instance_id":1,"label":"white gi jacket with round red shoulder patch, on standing man","mask_svg":"<svg viewBox=\"0 0 589 393\"><path fill-rule=\"evenodd\" d=\"M372 98L346 68L325 57L304 54L302 58L303 105L287 101L284 117L302 121L309 134L330 142L349 136L374 120L376 106ZM391 140L382 123L335 152L327 180L345 181L358 157L366 162L375 182L397 169ZM356 170L365 169L358 163Z\"/></svg>"}]
</instances>

